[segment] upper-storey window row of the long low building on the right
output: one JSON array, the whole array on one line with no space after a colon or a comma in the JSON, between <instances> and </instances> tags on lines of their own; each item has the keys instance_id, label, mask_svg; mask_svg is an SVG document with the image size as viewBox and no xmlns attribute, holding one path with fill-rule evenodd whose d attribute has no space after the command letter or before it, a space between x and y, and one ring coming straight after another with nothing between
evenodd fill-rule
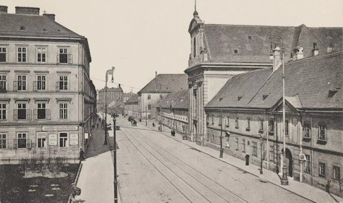
<instances>
[{"instance_id":1,"label":"upper-storey window row of the long low building on the right","mask_svg":"<svg viewBox=\"0 0 343 203\"><path fill-rule=\"evenodd\" d=\"M220 119L220 118L219 118ZM259 119L259 132L263 132L263 119ZM268 133L270 135L274 135L274 119L270 119L268 121ZM229 117L224 117L224 124L226 128L230 128ZM214 116L212 116L212 125L214 125ZM218 123L219 126L222 125L221 119ZM239 118L235 118L235 128L239 129ZM246 119L246 130L250 131L250 118ZM285 121L285 135L289 135L289 121ZM303 123L303 137L304 139L311 139L311 123L304 122ZM326 141L327 140L327 126L320 123L318 126L318 140L319 141Z\"/></svg>"}]
</instances>

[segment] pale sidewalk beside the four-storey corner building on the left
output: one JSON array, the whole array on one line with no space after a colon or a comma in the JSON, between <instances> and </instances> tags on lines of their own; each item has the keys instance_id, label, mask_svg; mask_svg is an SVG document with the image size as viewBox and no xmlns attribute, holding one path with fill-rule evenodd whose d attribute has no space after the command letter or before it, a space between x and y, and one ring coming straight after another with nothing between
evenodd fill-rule
<instances>
[{"instance_id":1,"label":"pale sidewalk beside the four-storey corner building on the left","mask_svg":"<svg viewBox=\"0 0 343 203\"><path fill-rule=\"evenodd\" d=\"M76 196L77 202L114 202L113 157L108 145L104 145L105 132L101 128L94 130L82 161L82 169L77 186L82 189ZM118 202L120 201L118 191Z\"/></svg>"}]
</instances>

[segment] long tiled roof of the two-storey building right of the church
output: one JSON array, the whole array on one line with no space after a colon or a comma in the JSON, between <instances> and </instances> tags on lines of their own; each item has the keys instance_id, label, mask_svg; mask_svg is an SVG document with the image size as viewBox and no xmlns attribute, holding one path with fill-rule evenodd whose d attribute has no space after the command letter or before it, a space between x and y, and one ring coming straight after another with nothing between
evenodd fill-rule
<instances>
[{"instance_id":1,"label":"long tiled roof of the two-storey building right of the church","mask_svg":"<svg viewBox=\"0 0 343 203\"><path fill-rule=\"evenodd\" d=\"M285 99L295 108L343 108L342 73L343 51L288 62ZM206 108L272 108L282 98L282 84L282 67L235 75Z\"/></svg>"}]
</instances>

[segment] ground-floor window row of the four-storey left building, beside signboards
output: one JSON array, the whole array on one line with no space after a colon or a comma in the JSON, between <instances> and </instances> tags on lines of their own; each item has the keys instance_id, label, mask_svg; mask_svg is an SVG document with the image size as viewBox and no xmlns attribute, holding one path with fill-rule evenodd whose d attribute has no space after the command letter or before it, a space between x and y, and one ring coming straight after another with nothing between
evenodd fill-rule
<instances>
[{"instance_id":1,"label":"ground-floor window row of the four-storey left building, beside signboards","mask_svg":"<svg viewBox=\"0 0 343 203\"><path fill-rule=\"evenodd\" d=\"M37 148L47 147L47 136L43 133L43 136L37 136ZM14 149L31 149L31 139L28 139L27 132L17 132L16 139L13 140ZM58 147L68 146L68 133L58 133ZM8 136L6 133L0 132L0 149L8 148Z\"/></svg>"}]
</instances>

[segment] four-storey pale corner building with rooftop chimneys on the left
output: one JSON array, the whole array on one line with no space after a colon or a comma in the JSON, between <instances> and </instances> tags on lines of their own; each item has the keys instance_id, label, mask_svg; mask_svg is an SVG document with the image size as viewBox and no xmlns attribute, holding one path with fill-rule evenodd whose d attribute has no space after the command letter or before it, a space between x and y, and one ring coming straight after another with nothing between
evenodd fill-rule
<instances>
[{"instance_id":1,"label":"four-storey pale corner building with rooftop chimneys on the left","mask_svg":"<svg viewBox=\"0 0 343 203\"><path fill-rule=\"evenodd\" d=\"M80 157L96 120L87 39L39 8L0 6L0 154Z\"/></svg>"}]
</instances>

